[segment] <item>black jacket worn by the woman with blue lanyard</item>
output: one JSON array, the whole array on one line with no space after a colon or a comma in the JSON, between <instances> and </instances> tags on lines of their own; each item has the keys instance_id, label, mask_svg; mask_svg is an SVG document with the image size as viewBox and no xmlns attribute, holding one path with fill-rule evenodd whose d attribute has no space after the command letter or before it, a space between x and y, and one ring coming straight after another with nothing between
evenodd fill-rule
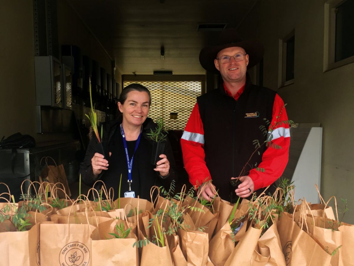
<instances>
[{"instance_id":1,"label":"black jacket worn by the woman with blue lanyard","mask_svg":"<svg viewBox=\"0 0 354 266\"><path fill-rule=\"evenodd\" d=\"M107 189L112 187L114 189L114 198L118 198L119 181L122 175L120 196L124 196L124 192L129 190L128 187L128 171L125 157L124 145L122 135L120 132L120 124L122 117L104 124L102 146L104 149L105 158L108 158L108 170L102 171L98 178L95 179L92 175L91 159L93 155L99 151L96 136L93 136L87 147L85 159L81 164L80 173L82 181L86 185L93 185L98 179L102 180ZM159 177L159 172L154 171L154 165L151 164L152 156L152 140L147 138L147 133L150 128L155 128L156 124L151 118L147 118L143 123L143 132L140 139L139 146L134 155L132 168L132 184L131 189L135 192L135 196L140 198L150 199L150 188L153 185L163 185L166 189L170 187L173 179L177 179L175 160L171 149L171 144L167 140L164 154L170 162L170 175L166 179ZM113 152L113 150L115 152ZM109 157L109 151L112 152ZM131 157L131 155L130 155ZM101 187L98 185L97 188ZM96 189L97 189L96 188Z\"/></svg>"}]
</instances>

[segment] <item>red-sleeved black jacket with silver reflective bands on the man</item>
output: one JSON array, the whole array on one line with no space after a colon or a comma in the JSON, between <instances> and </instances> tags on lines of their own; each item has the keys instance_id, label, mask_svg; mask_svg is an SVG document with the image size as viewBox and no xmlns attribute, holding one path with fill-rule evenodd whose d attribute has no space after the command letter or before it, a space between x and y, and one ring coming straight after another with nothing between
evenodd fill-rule
<instances>
[{"instance_id":1,"label":"red-sleeved black jacket with silver reflective bands on the man","mask_svg":"<svg viewBox=\"0 0 354 266\"><path fill-rule=\"evenodd\" d=\"M252 85L248 77L237 100L225 93L223 86L199 96L181 139L190 182L198 186L212 179L221 198L229 201L237 198L229 183L231 177L250 176L257 194L274 183L288 161L289 125L279 124L272 132L272 143L281 149L263 145L259 154L256 151L251 156L253 140L262 144L267 137L259 129L268 127L263 118L272 125L287 120L284 102L273 90ZM246 172L241 173L245 165Z\"/></svg>"}]
</instances>

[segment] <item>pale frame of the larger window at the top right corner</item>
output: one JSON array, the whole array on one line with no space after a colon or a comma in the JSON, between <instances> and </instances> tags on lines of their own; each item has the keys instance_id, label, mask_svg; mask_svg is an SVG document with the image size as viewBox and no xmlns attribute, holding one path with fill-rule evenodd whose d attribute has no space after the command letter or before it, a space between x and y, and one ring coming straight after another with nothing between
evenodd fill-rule
<instances>
[{"instance_id":1,"label":"pale frame of the larger window at the top right corner","mask_svg":"<svg viewBox=\"0 0 354 266\"><path fill-rule=\"evenodd\" d=\"M354 62L354 55L335 62L336 14L335 9L347 0L325 2L323 72Z\"/></svg>"}]
</instances>

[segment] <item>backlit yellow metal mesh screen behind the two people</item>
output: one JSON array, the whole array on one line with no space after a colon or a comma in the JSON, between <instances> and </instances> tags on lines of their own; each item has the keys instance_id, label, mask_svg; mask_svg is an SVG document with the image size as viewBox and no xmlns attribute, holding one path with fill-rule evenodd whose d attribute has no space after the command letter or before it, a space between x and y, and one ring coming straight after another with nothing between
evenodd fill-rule
<instances>
[{"instance_id":1,"label":"backlit yellow metal mesh screen behind the two people","mask_svg":"<svg viewBox=\"0 0 354 266\"><path fill-rule=\"evenodd\" d=\"M184 130L190 113L201 95L201 81L125 81L123 87L139 83L150 90L149 117L162 117L169 129Z\"/></svg>"}]
</instances>

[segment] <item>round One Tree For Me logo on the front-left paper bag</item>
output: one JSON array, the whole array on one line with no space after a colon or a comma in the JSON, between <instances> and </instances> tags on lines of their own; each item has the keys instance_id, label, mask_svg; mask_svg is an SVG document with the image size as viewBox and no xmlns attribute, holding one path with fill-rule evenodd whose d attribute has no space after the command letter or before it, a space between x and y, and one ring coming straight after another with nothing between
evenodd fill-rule
<instances>
[{"instance_id":1,"label":"round One Tree For Me logo on the front-left paper bag","mask_svg":"<svg viewBox=\"0 0 354 266\"><path fill-rule=\"evenodd\" d=\"M60 251L59 263L61 266L87 266L89 261L90 250L80 242L71 242Z\"/></svg>"}]
</instances>

